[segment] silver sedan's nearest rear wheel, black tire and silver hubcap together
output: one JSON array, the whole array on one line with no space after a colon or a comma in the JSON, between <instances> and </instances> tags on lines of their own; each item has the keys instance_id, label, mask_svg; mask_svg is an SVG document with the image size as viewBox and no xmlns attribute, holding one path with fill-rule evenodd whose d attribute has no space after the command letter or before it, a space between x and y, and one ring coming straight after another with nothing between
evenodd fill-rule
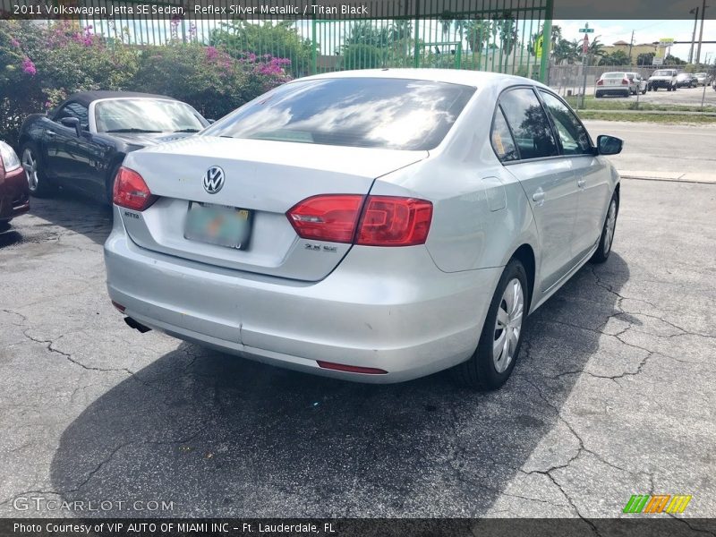
<instances>
[{"instance_id":1,"label":"silver sedan's nearest rear wheel, black tire and silver hubcap together","mask_svg":"<svg viewBox=\"0 0 716 537\"><path fill-rule=\"evenodd\" d=\"M508 303L506 296L517 298ZM467 362L458 364L452 370L459 384L481 390L494 390L505 384L519 357L529 310L527 273L519 260L510 260L502 271L490 302L477 349ZM503 320L507 320L508 324L505 325ZM499 341L505 342L507 347ZM499 353L497 360L494 359L496 347Z\"/></svg>"}]
</instances>

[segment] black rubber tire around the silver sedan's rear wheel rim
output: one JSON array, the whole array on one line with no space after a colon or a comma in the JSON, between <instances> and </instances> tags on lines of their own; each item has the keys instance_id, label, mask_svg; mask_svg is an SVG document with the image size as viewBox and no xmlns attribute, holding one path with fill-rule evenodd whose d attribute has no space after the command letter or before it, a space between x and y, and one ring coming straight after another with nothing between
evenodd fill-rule
<instances>
[{"instance_id":1,"label":"black rubber tire around the silver sedan's rear wheel rim","mask_svg":"<svg viewBox=\"0 0 716 537\"><path fill-rule=\"evenodd\" d=\"M517 343L513 349L511 361L507 363L507 368L500 372L497 370L493 359L493 346L497 340L496 335L499 334L498 339L501 336L507 337L507 332L502 330L500 333L500 330L496 329L498 310L505 303L503 294L505 294L507 286L515 279L519 281L523 291L522 324L519 328ZM528 311L530 311L530 290L527 286L527 273L519 260L510 260L507 263L507 267L502 271L497 289L490 302L490 308L487 311L485 323L482 325L482 334L477 344L477 349L475 349L473 356L467 362L456 365L452 370L454 378L459 384L481 390L494 390L505 384L512 370L515 369L515 363L519 358L520 347L524 339L524 330L527 326Z\"/></svg>"}]
</instances>

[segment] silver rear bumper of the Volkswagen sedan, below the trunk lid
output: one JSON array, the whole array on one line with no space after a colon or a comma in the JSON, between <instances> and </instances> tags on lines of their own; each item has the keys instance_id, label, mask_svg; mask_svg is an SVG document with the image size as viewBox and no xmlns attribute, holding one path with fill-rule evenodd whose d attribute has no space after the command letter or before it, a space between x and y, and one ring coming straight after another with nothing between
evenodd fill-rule
<instances>
[{"instance_id":1,"label":"silver rear bumper of the Volkswagen sedan, below the trunk lid","mask_svg":"<svg viewBox=\"0 0 716 537\"><path fill-rule=\"evenodd\" d=\"M117 220L105 244L107 289L132 319L260 362L362 382L414 379L469 358L502 271L442 272L423 246L354 247L328 277L298 282L144 250Z\"/></svg>"}]
</instances>

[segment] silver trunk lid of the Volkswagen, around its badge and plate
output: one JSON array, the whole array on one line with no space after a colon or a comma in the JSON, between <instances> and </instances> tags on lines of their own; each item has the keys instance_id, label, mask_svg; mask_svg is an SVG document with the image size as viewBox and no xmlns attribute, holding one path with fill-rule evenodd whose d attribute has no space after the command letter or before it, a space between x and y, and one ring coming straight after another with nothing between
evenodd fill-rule
<instances>
[{"instance_id":1,"label":"silver trunk lid of the Volkswagen, around its badge and plate","mask_svg":"<svg viewBox=\"0 0 716 537\"><path fill-rule=\"evenodd\" d=\"M285 141L208 136L130 153L124 166L138 172L158 196L142 212L120 209L134 243L183 259L270 276L317 281L337 267L351 245L301 240L286 217L299 201L318 194L367 195L373 180L428 156L427 151L349 148ZM215 193L204 177L216 167L224 183ZM211 190L209 185L209 190ZM196 204L212 211L245 209L248 241L241 249L207 243L187 218Z\"/></svg>"}]
</instances>

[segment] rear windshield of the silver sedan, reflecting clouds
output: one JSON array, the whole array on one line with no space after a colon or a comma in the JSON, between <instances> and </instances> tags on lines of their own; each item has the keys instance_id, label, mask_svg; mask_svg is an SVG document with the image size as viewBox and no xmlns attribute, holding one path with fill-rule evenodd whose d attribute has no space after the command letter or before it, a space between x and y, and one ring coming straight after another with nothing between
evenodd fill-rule
<instances>
[{"instance_id":1,"label":"rear windshield of the silver sedan, reflecting clouds","mask_svg":"<svg viewBox=\"0 0 716 537\"><path fill-rule=\"evenodd\" d=\"M445 138L475 89L436 81L295 81L213 124L204 136L424 150Z\"/></svg>"}]
</instances>

